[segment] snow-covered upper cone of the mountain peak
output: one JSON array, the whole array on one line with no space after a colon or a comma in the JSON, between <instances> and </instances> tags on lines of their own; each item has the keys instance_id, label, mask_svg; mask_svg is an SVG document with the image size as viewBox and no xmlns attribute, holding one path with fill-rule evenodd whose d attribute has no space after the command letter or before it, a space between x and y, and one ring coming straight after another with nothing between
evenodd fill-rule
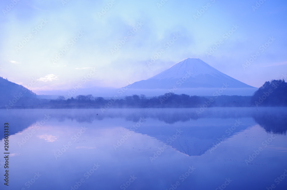
<instances>
[{"instance_id":1,"label":"snow-covered upper cone of the mountain peak","mask_svg":"<svg viewBox=\"0 0 287 190\"><path fill-rule=\"evenodd\" d=\"M191 77L196 77L198 75L210 74L213 76L222 75L223 73L217 69L211 67L204 61L198 58L187 58L169 69L151 77L150 79L180 79L186 75L187 72L192 73ZM223 74L224 75L224 74Z\"/></svg>"}]
</instances>

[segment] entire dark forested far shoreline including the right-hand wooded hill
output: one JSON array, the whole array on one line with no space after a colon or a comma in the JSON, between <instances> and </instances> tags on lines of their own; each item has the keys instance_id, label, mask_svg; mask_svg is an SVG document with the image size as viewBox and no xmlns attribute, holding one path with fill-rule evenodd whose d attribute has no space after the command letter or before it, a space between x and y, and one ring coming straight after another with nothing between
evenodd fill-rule
<instances>
[{"instance_id":1,"label":"entire dark forested far shoreline including the right-hand wooded hill","mask_svg":"<svg viewBox=\"0 0 287 190\"><path fill-rule=\"evenodd\" d=\"M27 108L208 108L287 106L287 83L284 80L265 82L253 96L189 96L172 92L147 98L144 94L113 98L78 95L75 98L59 96L55 100L17 97L7 102L2 109ZM14 101L15 100L15 101Z\"/></svg>"}]
</instances>

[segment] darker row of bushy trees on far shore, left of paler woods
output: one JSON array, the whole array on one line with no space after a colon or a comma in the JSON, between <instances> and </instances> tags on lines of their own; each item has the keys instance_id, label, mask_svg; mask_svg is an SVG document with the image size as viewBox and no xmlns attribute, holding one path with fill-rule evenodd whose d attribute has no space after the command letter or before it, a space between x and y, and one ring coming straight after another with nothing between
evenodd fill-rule
<instances>
[{"instance_id":1,"label":"darker row of bushy trees on far shore, left of paler woods","mask_svg":"<svg viewBox=\"0 0 287 190\"><path fill-rule=\"evenodd\" d=\"M147 98L146 95L133 94L123 98L94 97L90 95L78 95L75 98L65 99L59 96L56 100L51 100L53 107L93 107L93 108L149 108L149 107L199 107L208 101L207 98L199 96L189 96L187 94L166 93L161 96Z\"/></svg>"}]
</instances>

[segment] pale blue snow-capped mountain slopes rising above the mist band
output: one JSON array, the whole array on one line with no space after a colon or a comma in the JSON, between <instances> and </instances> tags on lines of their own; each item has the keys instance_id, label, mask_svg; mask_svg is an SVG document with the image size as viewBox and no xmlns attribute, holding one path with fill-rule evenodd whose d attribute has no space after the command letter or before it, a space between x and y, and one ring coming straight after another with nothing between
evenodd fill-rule
<instances>
[{"instance_id":1,"label":"pale blue snow-capped mountain slopes rising above the mist band","mask_svg":"<svg viewBox=\"0 0 287 190\"><path fill-rule=\"evenodd\" d=\"M211 67L201 59L188 58L169 69L151 77L133 83L134 89L170 89L178 88L221 88L223 84L228 88L254 88L240 82Z\"/></svg>"}]
</instances>

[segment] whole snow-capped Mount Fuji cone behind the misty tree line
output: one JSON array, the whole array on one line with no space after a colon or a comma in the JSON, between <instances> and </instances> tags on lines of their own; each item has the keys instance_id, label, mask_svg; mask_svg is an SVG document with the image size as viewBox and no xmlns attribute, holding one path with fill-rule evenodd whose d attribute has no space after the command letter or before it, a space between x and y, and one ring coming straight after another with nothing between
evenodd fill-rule
<instances>
[{"instance_id":1,"label":"whole snow-capped Mount Fuji cone behind the misty tree line","mask_svg":"<svg viewBox=\"0 0 287 190\"><path fill-rule=\"evenodd\" d=\"M130 92L166 93L166 90L192 95L212 95L212 92L223 88L225 95L252 95L257 88L240 82L208 65L201 59L188 58L169 69L147 79L135 82L129 86ZM227 89L227 90L226 90ZM152 93L154 95L154 93Z\"/></svg>"}]
</instances>

